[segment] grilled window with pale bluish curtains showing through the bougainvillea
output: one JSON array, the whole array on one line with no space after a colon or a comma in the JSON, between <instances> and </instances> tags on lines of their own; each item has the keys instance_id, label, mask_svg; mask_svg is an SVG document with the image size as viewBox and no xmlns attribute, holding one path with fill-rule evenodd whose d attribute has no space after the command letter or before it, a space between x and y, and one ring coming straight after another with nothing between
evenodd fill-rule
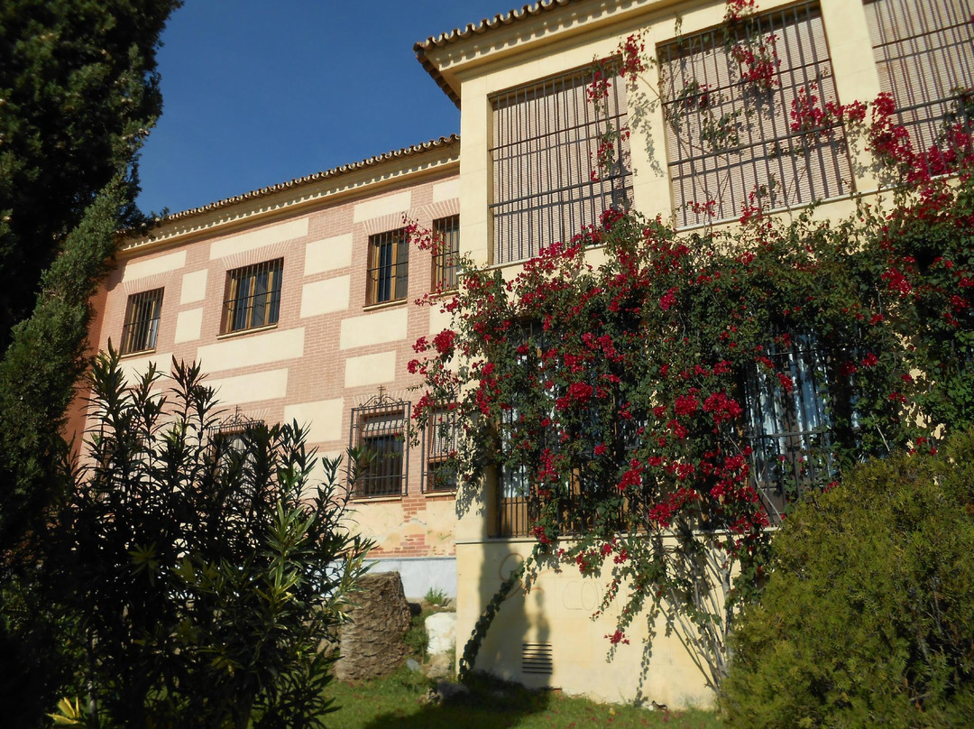
<instances>
[{"instance_id":1,"label":"grilled window with pale bluish curtains showing through the bougainvillea","mask_svg":"<svg viewBox=\"0 0 974 729\"><path fill-rule=\"evenodd\" d=\"M767 349L774 372L751 365L743 378L745 425L751 468L772 521L778 521L802 490L832 471L829 370L815 338L805 334L788 346ZM783 387L777 373L790 378Z\"/></svg>"}]
</instances>

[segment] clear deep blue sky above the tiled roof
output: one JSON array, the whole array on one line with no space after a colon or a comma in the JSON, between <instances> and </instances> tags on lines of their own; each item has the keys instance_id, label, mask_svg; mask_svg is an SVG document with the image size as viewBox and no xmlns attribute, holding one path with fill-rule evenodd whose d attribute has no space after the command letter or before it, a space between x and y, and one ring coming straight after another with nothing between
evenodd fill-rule
<instances>
[{"instance_id":1,"label":"clear deep blue sky above the tiled roof","mask_svg":"<svg viewBox=\"0 0 974 729\"><path fill-rule=\"evenodd\" d=\"M139 207L196 208L458 133L413 44L521 4L186 0L158 56L165 109Z\"/></svg>"}]
</instances>

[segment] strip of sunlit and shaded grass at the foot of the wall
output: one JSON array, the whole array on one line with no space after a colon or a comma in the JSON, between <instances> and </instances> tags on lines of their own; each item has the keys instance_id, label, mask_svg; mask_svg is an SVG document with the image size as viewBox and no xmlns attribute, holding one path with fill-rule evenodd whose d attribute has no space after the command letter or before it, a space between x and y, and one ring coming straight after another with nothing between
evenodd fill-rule
<instances>
[{"instance_id":1,"label":"strip of sunlit and shaded grass at the foot of the wall","mask_svg":"<svg viewBox=\"0 0 974 729\"><path fill-rule=\"evenodd\" d=\"M332 729L552 729L554 727L666 727L721 729L710 711L652 711L595 704L557 691L531 692L500 682L482 683L463 699L432 706L425 696L432 682L399 669L365 683L334 681L327 693L340 707L325 719Z\"/></svg>"}]
</instances>

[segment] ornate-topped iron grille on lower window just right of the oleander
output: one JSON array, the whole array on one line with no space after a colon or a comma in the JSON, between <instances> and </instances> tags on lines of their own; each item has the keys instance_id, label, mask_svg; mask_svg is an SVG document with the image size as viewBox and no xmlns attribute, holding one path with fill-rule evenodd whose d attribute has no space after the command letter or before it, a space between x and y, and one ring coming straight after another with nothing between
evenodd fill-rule
<instances>
[{"instance_id":1,"label":"ornate-topped iron grille on lower window just right of the oleander","mask_svg":"<svg viewBox=\"0 0 974 729\"><path fill-rule=\"evenodd\" d=\"M405 446L410 403L380 393L352 410L349 444L358 451L352 475L356 499L404 496L409 478L409 450Z\"/></svg>"}]
</instances>

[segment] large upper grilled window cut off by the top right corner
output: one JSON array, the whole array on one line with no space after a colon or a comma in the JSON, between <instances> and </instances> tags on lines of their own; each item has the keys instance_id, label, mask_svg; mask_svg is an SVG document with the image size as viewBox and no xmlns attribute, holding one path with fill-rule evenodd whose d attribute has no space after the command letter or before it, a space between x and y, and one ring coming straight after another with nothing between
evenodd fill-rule
<instances>
[{"instance_id":1,"label":"large upper grilled window cut off by the top right corner","mask_svg":"<svg viewBox=\"0 0 974 729\"><path fill-rule=\"evenodd\" d=\"M880 91L895 100L897 121L910 132L914 149L936 147L970 154L974 3L868 0L865 9ZM952 130L960 134L949 134ZM956 149L957 145L965 149Z\"/></svg>"}]
</instances>

